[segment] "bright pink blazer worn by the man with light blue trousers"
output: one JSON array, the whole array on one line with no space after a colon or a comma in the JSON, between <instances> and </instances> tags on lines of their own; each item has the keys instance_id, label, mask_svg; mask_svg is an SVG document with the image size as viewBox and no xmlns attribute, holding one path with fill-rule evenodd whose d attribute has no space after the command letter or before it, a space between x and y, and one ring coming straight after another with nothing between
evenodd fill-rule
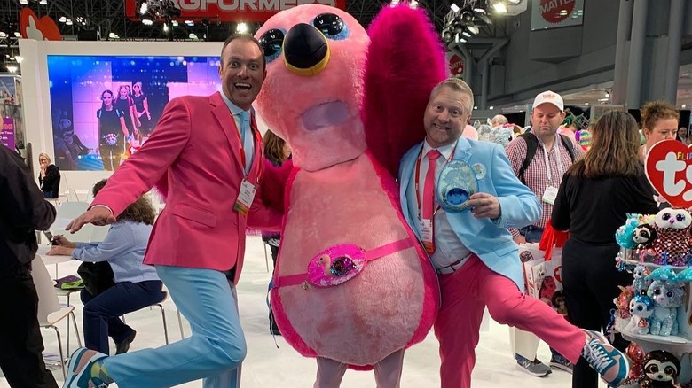
<instances>
[{"instance_id":1,"label":"bright pink blazer worn by the man with light blue trousers","mask_svg":"<svg viewBox=\"0 0 692 388\"><path fill-rule=\"evenodd\" d=\"M263 144L254 118L252 125L256 151L248 180L257 182ZM281 214L258 199L259 188L247 217L233 210L243 176L238 129L221 95L179 97L91 206L105 205L118 215L158 183L166 207L154 224L145 263L220 271L237 265L238 283L246 226L278 230L281 222Z\"/></svg>"}]
</instances>

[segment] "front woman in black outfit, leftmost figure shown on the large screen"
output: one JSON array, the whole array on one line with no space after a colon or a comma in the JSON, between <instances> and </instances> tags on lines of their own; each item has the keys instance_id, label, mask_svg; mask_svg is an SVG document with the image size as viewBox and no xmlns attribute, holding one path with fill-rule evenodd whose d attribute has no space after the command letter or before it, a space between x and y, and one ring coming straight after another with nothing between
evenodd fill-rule
<instances>
[{"instance_id":1,"label":"front woman in black outfit, leftmost figure shown on the large screen","mask_svg":"<svg viewBox=\"0 0 692 388\"><path fill-rule=\"evenodd\" d=\"M125 140L132 138L125 125L125 115L117 109L113 101L113 92L104 90L101 93L101 109L96 111L98 119L98 152L106 171L114 171L120 166L125 153Z\"/></svg>"}]
</instances>

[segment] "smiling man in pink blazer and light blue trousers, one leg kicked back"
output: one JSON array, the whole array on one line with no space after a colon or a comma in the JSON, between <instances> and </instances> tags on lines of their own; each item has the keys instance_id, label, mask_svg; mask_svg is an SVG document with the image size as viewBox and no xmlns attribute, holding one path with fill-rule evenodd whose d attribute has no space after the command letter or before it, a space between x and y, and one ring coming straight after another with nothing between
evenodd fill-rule
<instances>
[{"instance_id":1,"label":"smiling man in pink blazer and light blue trousers, one leg kicked back","mask_svg":"<svg viewBox=\"0 0 692 388\"><path fill-rule=\"evenodd\" d=\"M166 207L145 263L156 267L193 335L113 357L81 348L70 360L65 387L116 382L152 388L200 378L205 387L240 385L246 344L233 284L242 268L245 229L279 229L281 215L253 200L263 166L251 107L266 74L260 43L233 35L221 58L223 93L171 100L145 145L108 180L87 213L67 225L74 232L89 222L113 223L157 185ZM224 272L232 274L232 284Z\"/></svg>"}]
</instances>

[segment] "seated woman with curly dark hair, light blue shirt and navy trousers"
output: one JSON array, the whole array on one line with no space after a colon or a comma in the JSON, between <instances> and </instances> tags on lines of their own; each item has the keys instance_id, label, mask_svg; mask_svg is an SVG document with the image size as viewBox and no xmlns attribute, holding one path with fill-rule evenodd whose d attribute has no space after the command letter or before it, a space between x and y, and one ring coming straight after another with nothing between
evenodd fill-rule
<instances>
[{"instance_id":1,"label":"seated woman with curly dark hair, light blue shirt and navy trousers","mask_svg":"<svg viewBox=\"0 0 692 388\"><path fill-rule=\"evenodd\" d=\"M104 186L105 179L94 185L94 197ZM58 246L48 252L49 255L70 255L75 260L107 261L113 268L114 285L106 291L91 295L86 289L82 290L84 345L87 348L108 354L110 337L115 343L115 353L126 353L137 332L119 317L165 299L156 269L142 262L155 215L149 199L140 197L118 216L103 242L73 243L57 236Z\"/></svg>"}]
</instances>

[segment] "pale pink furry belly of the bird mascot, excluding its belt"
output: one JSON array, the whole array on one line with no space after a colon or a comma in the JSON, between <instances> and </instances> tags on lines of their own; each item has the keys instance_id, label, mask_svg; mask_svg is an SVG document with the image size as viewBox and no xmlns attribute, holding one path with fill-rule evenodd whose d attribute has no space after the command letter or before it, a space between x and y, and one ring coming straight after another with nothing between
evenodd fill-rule
<instances>
[{"instance_id":1,"label":"pale pink furry belly of the bird mascot, excluding its belt","mask_svg":"<svg viewBox=\"0 0 692 388\"><path fill-rule=\"evenodd\" d=\"M413 237L366 155L317 172L298 171L289 190L279 276L304 273L318 252L335 244L372 250ZM436 306L434 273L421 256L417 246L370 261L336 287L273 289L282 334L305 356L351 365L372 365L413 338L420 341L435 315L429 307Z\"/></svg>"}]
</instances>

